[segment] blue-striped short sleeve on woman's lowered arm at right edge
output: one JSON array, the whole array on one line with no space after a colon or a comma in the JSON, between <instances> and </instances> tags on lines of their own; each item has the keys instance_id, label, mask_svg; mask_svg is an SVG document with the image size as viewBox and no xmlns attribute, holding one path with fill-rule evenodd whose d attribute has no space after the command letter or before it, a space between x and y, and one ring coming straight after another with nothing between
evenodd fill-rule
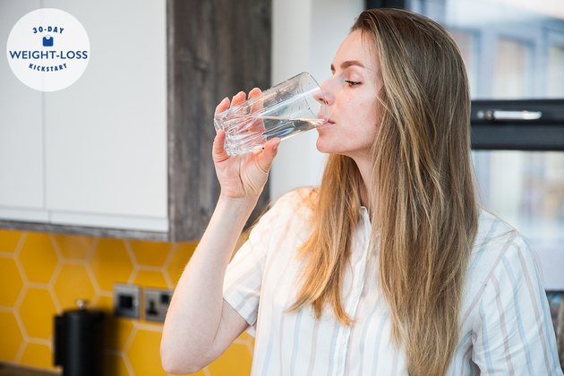
<instances>
[{"instance_id":1,"label":"blue-striped short sleeve on woman's lowered arm at right edge","mask_svg":"<svg viewBox=\"0 0 564 376\"><path fill-rule=\"evenodd\" d=\"M518 235L486 281L477 317L481 374L562 375L540 269Z\"/></svg>"}]
</instances>

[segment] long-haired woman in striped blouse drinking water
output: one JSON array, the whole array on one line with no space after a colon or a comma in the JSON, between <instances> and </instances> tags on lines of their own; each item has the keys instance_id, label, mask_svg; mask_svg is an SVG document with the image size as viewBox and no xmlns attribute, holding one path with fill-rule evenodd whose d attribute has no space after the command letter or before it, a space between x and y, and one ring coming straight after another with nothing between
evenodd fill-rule
<instances>
[{"instance_id":1,"label":"long-haired woman in striped blouse drinking water","mask_svg":"<svg viewBox=\"0 0 564 376\"><path fill-rule=\"evenodd\" d=\"M532 253L477 208L447 32L365 11L331 71L345 86L324 98L320 188L279 199L231 263L279 141L229 158L218 132L221 195L167 314L165 369L195 372L252 327L253 375L562 374Z\"/></svg>"}]
</instances>

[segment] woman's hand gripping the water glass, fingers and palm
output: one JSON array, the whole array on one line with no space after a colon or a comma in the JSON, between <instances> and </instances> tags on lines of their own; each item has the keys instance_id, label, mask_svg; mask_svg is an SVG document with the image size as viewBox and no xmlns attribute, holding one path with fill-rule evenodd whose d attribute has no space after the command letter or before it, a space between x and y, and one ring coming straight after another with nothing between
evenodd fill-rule
<instances>
[{"instance_id":1,"label":"woman's hand gripping the water glass, fingers and palm","mask_svg":"<svg viewBox=\"0 0 564 376\"><path fill-rule=\"evenodd\" d=\"M261 95L260 89L249 91L249 98ZM231 102L223 99L216 114L225 111L230 106L235 106L245 100L245 94L240 91ZM218 131L213 141L213 162L216 167L221 195L228 198L248 198L257 200L269 177L272 160L277 154L280 139L267 141L263 150L255 150L241 156L229 157L223 145L226 133Z\"/></svg>"}]
</instances>

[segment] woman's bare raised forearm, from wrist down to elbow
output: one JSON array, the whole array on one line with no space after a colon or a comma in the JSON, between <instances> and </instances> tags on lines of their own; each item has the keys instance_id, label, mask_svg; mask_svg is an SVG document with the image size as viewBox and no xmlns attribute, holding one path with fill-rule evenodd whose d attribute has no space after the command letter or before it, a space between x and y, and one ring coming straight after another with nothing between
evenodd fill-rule
<instances>
[{"instance_id":1,"label":"woman's bare raised forearm, from wrist down to elbow","mask_svg":"<svg viewBox=\"0 0 564 376\"><path fill-rule=\"evenodd\" d=\"M256 200L221 197L175 288L163 328L163 357L187 361L213 345L223 306L223 282L235 244Z\"/></svg>"}]
</instances>

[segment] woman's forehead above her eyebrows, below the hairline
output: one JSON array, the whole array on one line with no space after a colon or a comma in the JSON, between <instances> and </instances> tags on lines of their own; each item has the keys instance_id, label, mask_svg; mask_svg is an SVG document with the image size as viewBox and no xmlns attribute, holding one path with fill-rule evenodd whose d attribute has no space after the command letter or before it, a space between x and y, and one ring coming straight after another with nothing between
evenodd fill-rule
<instances>
[{"instance_id":1,"label":"woman's forehead above her eyebrows, below the hairline","mask_svg":"<svg viewBox=\"0 0 564 376\"><path fill-rule=\"evenodd\" d=\"M358 61L369 70L378 71L378 56L374 52L372 40L363 35L361 30L351 32L341 43L333 59L333 66L338 70L347 61Z\"/></svg>"}]
</instances>

